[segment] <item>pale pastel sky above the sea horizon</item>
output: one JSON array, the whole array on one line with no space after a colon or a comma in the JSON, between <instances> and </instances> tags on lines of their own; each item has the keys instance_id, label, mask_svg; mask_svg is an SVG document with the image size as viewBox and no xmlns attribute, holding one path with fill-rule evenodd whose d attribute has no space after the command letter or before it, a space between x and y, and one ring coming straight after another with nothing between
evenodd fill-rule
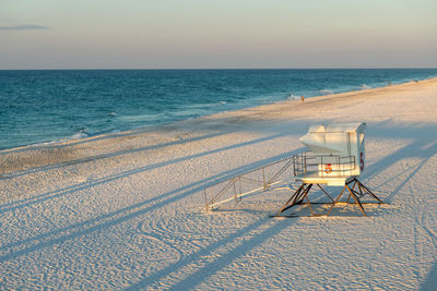
<instances>
[{"instance_id":1,"label":"pale pastel sky above the sea horizon","mask_svg":"<svg viewBox=\"0 0 437 291\"><path fill-rule=\"evenodd\" d=\"M437 68L437 0L0 0L0 69Z\"/></svg>"}]
</instances>

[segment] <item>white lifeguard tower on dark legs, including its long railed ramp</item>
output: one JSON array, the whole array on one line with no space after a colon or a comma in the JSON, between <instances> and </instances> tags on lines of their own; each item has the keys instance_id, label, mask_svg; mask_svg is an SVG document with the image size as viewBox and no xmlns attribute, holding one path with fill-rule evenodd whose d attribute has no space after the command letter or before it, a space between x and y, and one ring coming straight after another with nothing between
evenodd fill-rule
<instances>
[{"instance_id":1,"label":"white lifeguard tower on dark legs, including its long railed ramp","mask_svg":"<svg viewBox=\"0 0 437 291\"><path fill-rule=\"evenodd\" d=\"M288 155L204 187L206 210L213 210L233 201L239 203L247 195L287 189L292 190L293 195L273 215L274 217L298 216L284 213L294 206L304 208L307 206L310 216L329 216L335 205L341 204L356 204L366 216L363 205L370 203L362 202L365 195L376 199L377 204L382 202L358 180L365 167L365 130L366 123L331 123L309 128L308 133L299 138L307 150ZM299 185L297 190L292 186L293 180ZM326 195L329 202L318 199L311 203L309 192L312 186L319 187L322 193L318 195L321 194L322 197ZM327 186L343 189L333 198L328 193ZM340 198L344 193L349 193L347 201L341 202ZM321 205L323 213L316 205ZM300 209L303 208L299 207Z\"/></svg>"}]
</instances>

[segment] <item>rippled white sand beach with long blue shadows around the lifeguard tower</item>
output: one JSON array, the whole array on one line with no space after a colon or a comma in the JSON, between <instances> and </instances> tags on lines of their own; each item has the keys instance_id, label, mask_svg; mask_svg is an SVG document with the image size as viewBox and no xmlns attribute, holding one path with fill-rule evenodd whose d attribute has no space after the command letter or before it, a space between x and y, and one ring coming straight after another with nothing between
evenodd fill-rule
<instances>
[{"instance_id":1,"label":"rippled white sand beach with long blue shadows around the lifeguard tower","mask_svg":"<svg viewBox=\"0 0 437 291\"><path fill-rule=\"evenodd\" d=\"M430 78L2 150L0 289L436 290L436 108ZM270 218L286 189L205 211L329 122L367 123L368 217Z\"/></svg>"}]
</instances>

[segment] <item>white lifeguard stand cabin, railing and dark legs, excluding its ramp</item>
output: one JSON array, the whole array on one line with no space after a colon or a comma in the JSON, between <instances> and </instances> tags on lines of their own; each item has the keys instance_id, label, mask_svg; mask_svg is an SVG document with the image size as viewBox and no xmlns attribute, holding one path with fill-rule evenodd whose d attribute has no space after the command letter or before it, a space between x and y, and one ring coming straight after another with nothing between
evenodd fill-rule
<instances>
[{"instance_id":1,"label":"white lifeguard stand cabin, railing and dark legs, excluding its ramp","mask_svg":"<svg viewBox=\"0 0 437 291\"><path fill-rule=\"evenodd\" d=\"M312 185L317 185L329 198L332 206L323 215L329 215L335 204L340 203L342 194L347 190L351 197L359 206L363 215L366 213L361 197L368 194L379 204L382 202L362 182L358 177L365 165L365 130L366 123L332 123L314 125L299 141L308 147L308 151L299 155L294 162L295 181L302 185L285 203L276 216L296 205L307 205L311 216L316 215L308 198ZM333 199L321 186L343 186L339 196ZM352 184L352 186L351 186Z\"/></svg>"}]
</instances>

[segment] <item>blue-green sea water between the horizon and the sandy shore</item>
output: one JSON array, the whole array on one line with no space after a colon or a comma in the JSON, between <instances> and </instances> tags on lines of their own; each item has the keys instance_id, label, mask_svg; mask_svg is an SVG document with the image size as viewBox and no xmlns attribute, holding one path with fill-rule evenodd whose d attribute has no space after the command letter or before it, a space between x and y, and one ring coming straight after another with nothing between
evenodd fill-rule
<instances>
[{"instance_id":1,"label":"blue-green sea water between the horizon and the sandy shore","mask_svg":"<svg viewBox=\"0 0 437 291\"><path fill-rule=\"evenodd\" d=\"M0 71L0 149L437 75L437 69Z\"/></svg>"}]
</instances>

